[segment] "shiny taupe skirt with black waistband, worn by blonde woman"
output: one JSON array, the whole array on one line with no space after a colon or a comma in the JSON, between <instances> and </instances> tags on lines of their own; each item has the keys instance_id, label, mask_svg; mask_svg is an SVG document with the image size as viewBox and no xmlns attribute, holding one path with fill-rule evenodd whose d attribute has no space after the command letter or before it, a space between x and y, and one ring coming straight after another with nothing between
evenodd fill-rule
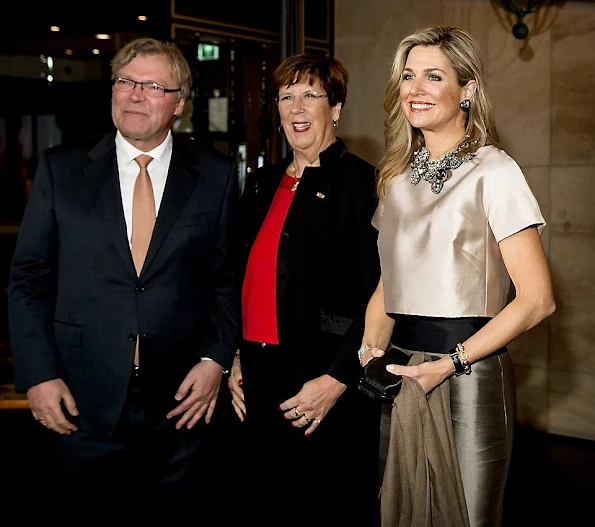
<instances>
[{"instance_id":1,"label":"shiny taupe skirt with black waistband, worn by blonde woman","mask_svg":"<svg viewBox=\"0 0 595 527\"><path fill-rule=\"evenodd\" d=\"M393 345L441 355L470 337L489 318L443 319L398 315ZM471 527L499 527L512 454L516 392L510 356L503 348L453 376L450 406ZM390 419L390 410L384 414ZM385 427L383 427L385 428ZM390 428L389 428L390 429Z\"/></svg>"}]
</instances>

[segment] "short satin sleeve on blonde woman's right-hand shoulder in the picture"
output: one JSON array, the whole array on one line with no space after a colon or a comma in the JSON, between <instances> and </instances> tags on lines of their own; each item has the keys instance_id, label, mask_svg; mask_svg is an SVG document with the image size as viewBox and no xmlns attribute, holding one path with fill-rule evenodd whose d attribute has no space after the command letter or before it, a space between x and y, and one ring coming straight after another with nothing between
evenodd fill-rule
<instances>
[{"instance_id":1,"label":"short satin sleeve on blonde woman's right-hand shoulder in the picture","mask_svg":"<svg viewBox=\"0 0 595 527\"><path fill-rule=\"evenodd\" d=\"M484 180L484 207L496 241L531 226L541 235L546 222L523 172L508 154L500 154Z\"/></svg>"}]
</instances>

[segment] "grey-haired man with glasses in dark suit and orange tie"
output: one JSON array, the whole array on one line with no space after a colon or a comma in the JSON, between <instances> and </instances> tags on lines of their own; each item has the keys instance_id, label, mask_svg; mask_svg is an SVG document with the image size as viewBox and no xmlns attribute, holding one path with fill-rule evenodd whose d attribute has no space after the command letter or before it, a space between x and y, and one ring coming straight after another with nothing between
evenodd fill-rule
<instances>
[{"instance_id":1,"label":"grey-haired man with glasses in dark suit and orange tie","mask_svg":"<svg viewBox=\"0 0 595 527\"><path fill-rule=\"evenodd\" d=\"M112 73L117 132L40 159L9 320L17 390L57 434L61 494L136 506L196 493L237 344L237 178L172 136L191 85L174 44L130 42Z\"/></svg>"}]
</instances>

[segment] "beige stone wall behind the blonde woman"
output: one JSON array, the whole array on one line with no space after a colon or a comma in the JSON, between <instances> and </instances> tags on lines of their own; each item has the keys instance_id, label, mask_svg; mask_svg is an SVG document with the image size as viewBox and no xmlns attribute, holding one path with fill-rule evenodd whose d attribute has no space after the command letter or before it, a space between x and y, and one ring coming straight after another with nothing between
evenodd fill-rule
<instances>
[{"instance_id":1,"label":"beige stone wall behind the blonde woman","mask_svg":"<svg viewBox=\"0 0 595 527\"><path fill-rule=\"evenodd\" d=\"M548 222L543 244L558 306L510 346L519 420L595 439L595 4L560 4L527 16L530 35L520 41L510 31L514 20L490 0L338 0L335 52L351 75L339 131L376 163L399 40L435 24L478 40L504 148Z\"/></svg>"}]
</instances>

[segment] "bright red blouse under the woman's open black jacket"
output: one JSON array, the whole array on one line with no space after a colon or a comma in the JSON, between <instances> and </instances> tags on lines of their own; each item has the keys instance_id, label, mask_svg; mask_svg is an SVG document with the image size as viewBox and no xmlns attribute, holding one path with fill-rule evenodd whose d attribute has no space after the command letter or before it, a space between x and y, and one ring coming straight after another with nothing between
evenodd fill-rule
<instances>
[{"instance_id":1,"label":"bright red blouse under the woman's open black jacket","mask_svg":"<svg viewBox=\"0 0 595 527\"><path fill-rule=\"evenodd\" d=\"M285 174L252 245L242 286L242 323L246 340L279 344L277 331L277 251L295 192Z\"/></svg>"}]
</instances>

